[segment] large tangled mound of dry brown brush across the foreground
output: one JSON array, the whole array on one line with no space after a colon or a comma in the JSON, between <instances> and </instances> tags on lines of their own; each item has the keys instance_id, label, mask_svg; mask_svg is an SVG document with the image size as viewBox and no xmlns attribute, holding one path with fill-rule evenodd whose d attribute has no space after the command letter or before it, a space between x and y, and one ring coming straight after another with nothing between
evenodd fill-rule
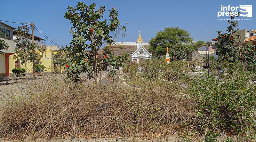
<instances>
[{"instance_id":1,"label":"large tangled mound of dry brown brush across the foreground","mask_svg":"<svg viewBox=\"0 0 256 142\"><path fill-rule=\"evenodd\" d=\"M192 130L194 100L184 97L182 89L171 91L168 82L139 80L140 87L54 79L37 84L36 90L26 90L0 108L0 137L150 139Z\"/></svg>"}]
</instances>

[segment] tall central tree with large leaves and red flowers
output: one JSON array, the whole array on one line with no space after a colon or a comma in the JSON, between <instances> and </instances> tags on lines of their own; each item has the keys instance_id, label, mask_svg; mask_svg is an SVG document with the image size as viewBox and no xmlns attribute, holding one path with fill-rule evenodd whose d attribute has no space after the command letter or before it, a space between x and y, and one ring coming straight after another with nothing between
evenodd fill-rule
<instances>
[{"instance_id":1,"label":"tall central tree with large leaves and red flowers","mask_svg":"<svg viewBox=\"0 0 256 142\"><path fill-rule=\"evenodd\" d=\"M99 52L103 45L111 45L119 32L126 31L126 27L122 27L117 19L115 7L109 10L108 20L102 20L105 13L107 11L104 6L96 9L94 3L87 5L78 2L76 7L68 6L64 17L72 24L70 33L73 35L73 40L69 47L64 49L64 51L69 51L66 80L82 81L80 75L87 73L87 77L97 83L99 72L106 70L108 65L119 67L125 65L122 61L126 57L115 57L109 50ZM125 34L122 33L122 35Z\"/></svg>"}]
</instances>

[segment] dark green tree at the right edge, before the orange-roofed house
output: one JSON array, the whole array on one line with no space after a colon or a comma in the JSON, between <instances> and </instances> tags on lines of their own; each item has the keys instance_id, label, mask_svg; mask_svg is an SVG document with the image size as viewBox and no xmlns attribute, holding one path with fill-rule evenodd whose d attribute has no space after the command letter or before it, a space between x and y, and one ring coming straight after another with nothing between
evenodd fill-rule
<instances>
[{"instance_id":1,"label":"dark green tree at the right edge, before the orange-roofed house","mask_svg":"<svg viewBox=\"0 0 256 142\"><path fill-rule=\"evenodd\" d=\"M215 46L218 48L218 60L226 60L230 63L239 60L243 68L246 68L247 65L256 65L255 45L241 44L243 41L240 41L238 21L235 16L230 16L230 19L228 20L229 26L226 33L222 33L220 30L217 31L218 40Z\"/></svg>"}]
</instances>

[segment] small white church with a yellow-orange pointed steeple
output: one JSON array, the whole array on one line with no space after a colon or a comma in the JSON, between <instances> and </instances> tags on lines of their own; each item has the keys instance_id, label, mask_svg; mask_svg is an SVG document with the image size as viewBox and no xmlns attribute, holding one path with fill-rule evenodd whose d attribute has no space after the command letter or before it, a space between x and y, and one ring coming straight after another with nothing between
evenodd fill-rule
<instances>
[{"instance_id":1,"label":"small white church with a yellow-orange pointed steeple","mask_svg":"<svg viewBox=\"0 0 256 142\"><path fill-rule=\"evenodd\" d=\"M137 39L136 50L131 54L131 60L133 63L140 63L143 59L149 59L152 54L143 46L143 39L141 38L139 31L139 38Z\"/></svg>"}]
</instances>

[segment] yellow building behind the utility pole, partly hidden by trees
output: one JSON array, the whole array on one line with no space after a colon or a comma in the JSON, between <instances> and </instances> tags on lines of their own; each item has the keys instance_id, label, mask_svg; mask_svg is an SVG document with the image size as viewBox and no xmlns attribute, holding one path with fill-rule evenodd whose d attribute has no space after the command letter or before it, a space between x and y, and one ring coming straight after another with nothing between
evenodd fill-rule
<instances>
[{"instance_id":1,"label":"yellow building behind the utility pole, partly hidden by trees","mask_svg":"<svg viewBox=\"0 0 256 142\"><path fill-rule=\"evenodd\" d=\"M45 45L43 45L45 46ZM52 73L52 72L63 72L65 70L64 67L54 65L53 55L58 52L59 47L54 45L46 45L45 52L43 53L43 57L40 60L41 64L45 66L45 73ZM12 69L17 68L25 68L25 64L20 64L16 59L13 58L13 55L9 56L9 70L12 73ZM27 63L27 72L32 73L32 64L30 62Z\"/></svg>"}]
</instances>

